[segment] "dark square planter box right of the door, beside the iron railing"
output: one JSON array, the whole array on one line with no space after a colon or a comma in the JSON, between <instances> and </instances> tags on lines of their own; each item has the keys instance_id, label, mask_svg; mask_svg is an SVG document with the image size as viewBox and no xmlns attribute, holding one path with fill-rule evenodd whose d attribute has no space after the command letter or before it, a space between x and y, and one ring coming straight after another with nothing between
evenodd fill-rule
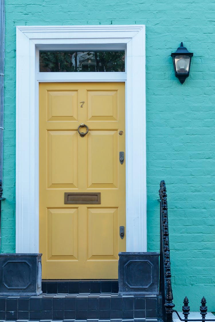
<instances>
[{"instance_id":1,"label":"dark square planter box right of the door, beside the iron railing","mask_svg":"<svg viewBox=\"0 0 215 322\"><path fill-rule=\"evenodd\" d=\"M159 253L119 253L119 294L159 294Z\"/></svg>"}]
</instances>

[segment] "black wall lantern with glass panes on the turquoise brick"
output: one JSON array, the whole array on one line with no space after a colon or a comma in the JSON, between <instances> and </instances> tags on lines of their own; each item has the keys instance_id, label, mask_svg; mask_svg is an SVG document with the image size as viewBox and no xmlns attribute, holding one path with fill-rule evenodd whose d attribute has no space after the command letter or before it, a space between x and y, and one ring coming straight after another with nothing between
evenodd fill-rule
<instances>
[{"instance_id":1,"label":"black wall lantern with glass panes on the turquoise brick","mask_svg":"<svg viewBox=\"0 0 215 322\"><path fill-rule=\"evenodd\" d=\"M185 79L189 76L192 52L189 52L186 47L181 46L176 50L176 52L171 53L173 60L175 77L178 77L181 84L184 83Z\"/></svg>"}]
</instances>

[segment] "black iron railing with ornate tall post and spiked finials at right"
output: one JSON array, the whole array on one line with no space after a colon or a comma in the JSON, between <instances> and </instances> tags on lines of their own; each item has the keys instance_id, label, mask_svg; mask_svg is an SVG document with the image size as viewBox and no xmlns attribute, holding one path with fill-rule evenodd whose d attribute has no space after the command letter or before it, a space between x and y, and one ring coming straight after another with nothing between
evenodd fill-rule
<instances>
[{"instance_id":1,"label":"black iron railing with ornate tall post and spiked finials at right","mask_svg":"<svg viewBox=\"0 0 215 322\"><path fill-rule=\"evenodd\" d=\"M172 302L172 287L171 287L171 265L170 265L170 244L169 244L169 226L168 226L168 211L167 211L167 194L166 184L162 180L160 183L160 294L162 296L162 313L164 322L172 322L172 313L175 312L180 321L215 321L214 319L206 319L207 306L206 299L201 299L200 314L201 319L188 319L190 314L189 300L184 298L184 305L182 311L184 319L182 319L179 313L174 310L174 304Z\"/></svg>"}]
</instances>

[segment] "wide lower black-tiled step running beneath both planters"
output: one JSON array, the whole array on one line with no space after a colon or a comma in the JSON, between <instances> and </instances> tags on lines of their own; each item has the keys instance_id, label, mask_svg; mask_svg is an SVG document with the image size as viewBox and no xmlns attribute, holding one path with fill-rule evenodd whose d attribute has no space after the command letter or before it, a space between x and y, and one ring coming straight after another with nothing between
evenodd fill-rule
<instances>
[{"instance_id":1,"label":"wide lower black-tiled step running beneath both planters","mask_svg":"<svg viewBox=\"0 0 215 322\"><path fill-rule=\"evenodd\" d=\"M0 297L0 320L156 320L158 302L155 295L124 296L117 293Z\"/></svg>"}]
</instances>

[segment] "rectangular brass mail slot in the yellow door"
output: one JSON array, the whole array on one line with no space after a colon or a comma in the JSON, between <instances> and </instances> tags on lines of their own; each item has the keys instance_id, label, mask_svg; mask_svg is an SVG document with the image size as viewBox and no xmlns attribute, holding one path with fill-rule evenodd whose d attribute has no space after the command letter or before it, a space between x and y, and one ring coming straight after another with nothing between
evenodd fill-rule
<instances>
[{"instance_id":1,"label":"rectangular brass mail slot in the yellow door","mask_svg":"<svg viewBox=\"0 0 215 322\"><path fill-rule=\"evenodd\" d=\"M65 192L64 204L101 204L101 192Z\"/></svg>"}]
</instances>

